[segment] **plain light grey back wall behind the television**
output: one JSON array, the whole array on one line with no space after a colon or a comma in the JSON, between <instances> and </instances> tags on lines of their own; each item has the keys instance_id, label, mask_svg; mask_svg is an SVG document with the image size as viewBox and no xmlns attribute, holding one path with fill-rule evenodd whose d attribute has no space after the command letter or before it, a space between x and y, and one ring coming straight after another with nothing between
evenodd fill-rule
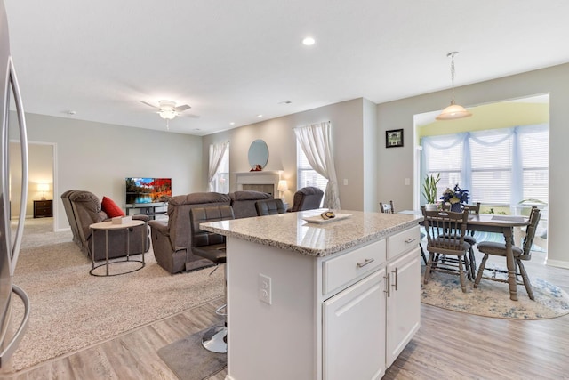
<instances>
[{"instance_id":1,"label":"plain light grey back wall behind the television","mask_svg":"<svg viewBox=\"0 0 569 380\"><path fill-rule=\"evenodd\" d=\"M57 230L68 228L60 198L67 190L89 190L124 207L125 177L172 178L173 195L204 189L201 137L36 114L26 122L29 141L55 143Z\"/></svg>"}]
</instances>

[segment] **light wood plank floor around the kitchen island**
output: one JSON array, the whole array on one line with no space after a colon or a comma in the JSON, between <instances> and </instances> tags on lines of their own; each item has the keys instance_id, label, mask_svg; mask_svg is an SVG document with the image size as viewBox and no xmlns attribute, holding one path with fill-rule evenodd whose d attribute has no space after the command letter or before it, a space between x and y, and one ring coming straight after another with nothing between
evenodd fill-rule
<instances>
[{"instance_id":1,"label":"light wood plank floor around the kitchen island","mask_svg":"<svg viewBox=\"0 0 569 380\"><path fill-rule=\"evenodd\" d=\"M543 255L537 254L525 267L531 276L569 291L569 271L542 263ZM221 303L215 300L5 378L176 379L156 351L219 321L214 310ZM223 380L226 373L210 380ZM569 379L569 315L493 319L422 304L421 329L383 378Z\"/></svg>"}]
</instances>

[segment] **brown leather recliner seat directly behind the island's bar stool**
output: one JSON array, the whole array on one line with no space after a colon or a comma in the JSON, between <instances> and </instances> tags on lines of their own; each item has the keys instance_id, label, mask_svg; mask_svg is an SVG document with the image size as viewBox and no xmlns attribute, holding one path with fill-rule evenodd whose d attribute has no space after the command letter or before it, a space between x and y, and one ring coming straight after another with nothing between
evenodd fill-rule
<instances>
[{"instance_id":1,"label":"brown leather recliner seat directly behind the island's bar stool","mask_svg":"<svg viewBox=\"0 0 569 380\"><path fill-rule=\"evenodd\" d=\"M194 271L211 266L211 260L192 253L189 210L194 207L230 206L228 194L195 192L178 195L168 202L168 222L150 221L156 262L170 273Z\"/></svg>"}]
</instances>

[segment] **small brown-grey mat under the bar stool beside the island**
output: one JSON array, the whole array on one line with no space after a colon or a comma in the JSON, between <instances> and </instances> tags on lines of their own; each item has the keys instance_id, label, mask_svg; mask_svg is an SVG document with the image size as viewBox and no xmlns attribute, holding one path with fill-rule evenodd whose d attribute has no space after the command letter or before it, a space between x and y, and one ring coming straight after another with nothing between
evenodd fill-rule
<instances>
[{"instance_id":1,"label":"small brown-grey mat under the bar stool beside the island","mask_svg":"<svg viewBox=\"0 0 569 380\"><path fill-rule=\"evenodd\" d=\"M228 365L226 353L209 352L202 346L207 329L158 350L158 356L180 380L203 380Z\"/></svg>"}]
</instances>

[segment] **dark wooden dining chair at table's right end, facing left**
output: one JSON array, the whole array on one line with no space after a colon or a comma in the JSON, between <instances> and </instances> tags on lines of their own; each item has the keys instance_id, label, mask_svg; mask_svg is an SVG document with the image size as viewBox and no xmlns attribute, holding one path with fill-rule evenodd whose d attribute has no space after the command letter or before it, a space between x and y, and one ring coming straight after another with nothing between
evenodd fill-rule
<instances>
[{"instance_id":1,"label":"dark wooden dining chair at table's right end, facing left","mask_svg":"<svg viewBox=\"0 0 569 380\"><path fill-rule=\"evenodd\" d=\"M535 230L537 230L537 224L540 222L541 218L541 211L537 207L533 207L530 213L529 224L525 230L525 238L523 241L522 247L512 246L512 251L514 254L514 260L516 261L516 268L519 271L516 271L516 279L521 276L522 281L516 281L517 284L521 285L524 284L525 290L527 291L527 295L530 297L531 300L534 299L533 290L532 290L532 283L530 279L527 277L527 272L525 271L524 264L522 261L524 260L531 260L532 259L532 244L533 238L535 237ZM493 241L481 241L478 243L478 251L484 254L482 258L482 262L480 262L480 266L478 267L477 271L477 279L474 281L474 287L478 287L480 280L484 277L484 279L490 279L493 281L500 281L500 282L508 282L508 279L500 279L496 278L496 272L501 273L508 273L508 271L504 271L501 269L486 269L486 261L488 260L489 255L498 255L506 257L506 243L497 243ZM492 271L492 277L484 276L484 271Z\"/></svg>"}]
</instances>

